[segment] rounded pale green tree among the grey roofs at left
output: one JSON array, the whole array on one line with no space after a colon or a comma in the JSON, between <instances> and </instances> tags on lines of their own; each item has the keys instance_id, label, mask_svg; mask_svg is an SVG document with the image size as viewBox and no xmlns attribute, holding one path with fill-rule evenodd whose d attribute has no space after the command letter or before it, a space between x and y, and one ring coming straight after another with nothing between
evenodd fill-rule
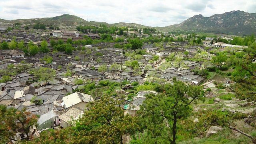
<instances>
[{"instance_id":1,"label":"rounded pale green tree among the grey roofs at left","mask_svg":"<svg viewBox=\"0 0 256 144\"><path fill-rule=\"evenodd\" d=\"M39 68L34 74L39 77L40 81L45 81L47 84L55 77L56 72L52 68Z\"/></svg>"}]
</instances>

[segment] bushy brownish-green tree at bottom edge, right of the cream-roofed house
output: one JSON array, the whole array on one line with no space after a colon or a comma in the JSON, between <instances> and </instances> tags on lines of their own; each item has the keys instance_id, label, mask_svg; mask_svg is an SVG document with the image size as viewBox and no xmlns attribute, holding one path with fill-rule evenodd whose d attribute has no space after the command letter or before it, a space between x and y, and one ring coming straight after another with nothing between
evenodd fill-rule
<instances>
[{"instance_id":1,"label":"bushy brownish-green tree at bottom edge, right of the cream-roofed house","mask_svg":"<svg viewBox=\"0 0 256 144\"><path fill-rule=\"evenodd\" d=\"M103 96L99 101L86 105L89 110L74 126L73 144L122 144L123 135L134 134L138 129L136 117L124 116L118 107L122 101Z\"/></svg>"}]
</instances>

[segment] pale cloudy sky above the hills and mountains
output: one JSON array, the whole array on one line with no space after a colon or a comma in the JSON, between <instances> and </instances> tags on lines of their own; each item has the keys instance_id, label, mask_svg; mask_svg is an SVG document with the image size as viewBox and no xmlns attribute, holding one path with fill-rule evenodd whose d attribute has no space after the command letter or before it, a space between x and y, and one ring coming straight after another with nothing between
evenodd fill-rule
<instances>
[{"instance_id":1,"label":"pale cloudy sky above the hills and mountains","mask_svg":"<svg viewBox=\"0 0 256 144\"><path fill-rule=\"evenodd\" d=\"M5 20L71 14L88 21L153 27L232 10L256 13L256 0L0 0L0 18Z\"/></svg>"}]
</instances>

